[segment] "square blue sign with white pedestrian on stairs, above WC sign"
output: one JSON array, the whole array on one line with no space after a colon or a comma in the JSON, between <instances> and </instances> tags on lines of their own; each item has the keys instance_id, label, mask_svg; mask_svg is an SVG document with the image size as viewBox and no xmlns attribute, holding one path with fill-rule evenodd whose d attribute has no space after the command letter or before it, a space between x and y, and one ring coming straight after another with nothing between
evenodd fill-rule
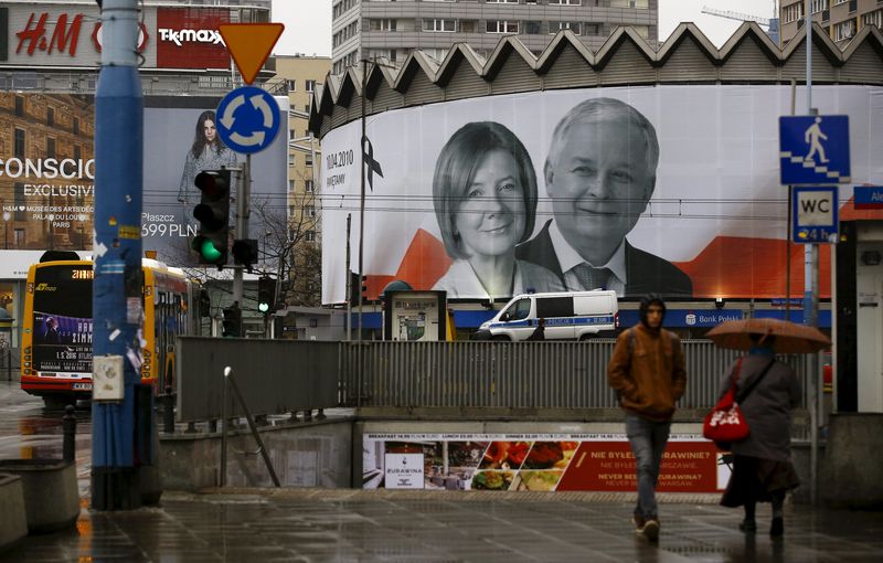
<instances>
[{"instance_id":1,"label":"square blue sign with white pedestrian on stairs, above WC sign","mask_svg":"<svg viewBox=\"0 0 883 563\"><path fill-rule=\"evenodd\" d=\"M784 185L849 183L849 117L779 117L779 161Z\"/></svg>"}]
</instances>

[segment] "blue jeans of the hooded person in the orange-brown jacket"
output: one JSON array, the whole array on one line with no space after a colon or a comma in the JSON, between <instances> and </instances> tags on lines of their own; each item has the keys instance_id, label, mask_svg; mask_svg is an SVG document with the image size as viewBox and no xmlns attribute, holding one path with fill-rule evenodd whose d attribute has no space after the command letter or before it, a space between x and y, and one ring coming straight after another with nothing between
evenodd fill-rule
<instances>
[{"instance_id":1,"label":"blue jeans of the hooded person in the orange-brown jacket","mask_svg":"<svg viewBox=\"0 0 883 563\"><path fill-rule=\"evenodd\" d=\"M635 455L635 472L638 478L638 504L635 513L643 518L658 518L656 485L659 481L659 465L669 440L671 422L653 422L637 414L626 413L626 434Z\"/></svg>"}]
</instances>

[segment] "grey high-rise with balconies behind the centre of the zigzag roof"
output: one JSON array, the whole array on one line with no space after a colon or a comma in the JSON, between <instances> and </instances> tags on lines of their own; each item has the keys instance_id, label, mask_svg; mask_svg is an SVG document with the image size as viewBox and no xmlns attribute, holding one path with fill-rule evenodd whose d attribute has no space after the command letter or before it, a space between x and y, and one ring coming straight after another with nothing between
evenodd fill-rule
<instances>
[{"instance_id":1,"label":"grey high-rise with balconies behind the centre of the zigzag roof","mask_svg":"<svg viewBox=\"0 0 883 563\"><path fill-rule=\"evenodd\" d=\"M597 50L619 25L656 46L658 0L334 0L332 72L362 59L401 65L417 49L443 61L455 43L488 56L503 35L533 53L562 29Z\"/></svg>"}]
</instances>

